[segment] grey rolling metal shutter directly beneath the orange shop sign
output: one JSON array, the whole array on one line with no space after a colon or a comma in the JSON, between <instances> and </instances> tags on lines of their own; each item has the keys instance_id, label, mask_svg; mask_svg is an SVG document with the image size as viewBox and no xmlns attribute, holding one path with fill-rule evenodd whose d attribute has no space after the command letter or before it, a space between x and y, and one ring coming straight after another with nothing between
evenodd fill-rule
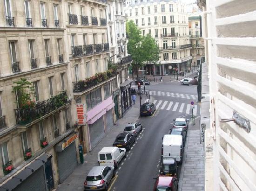
<instances>
[{"instance_id":1,"label":"grey rolling metal shutter directly beneath the orange shop sign","mask_svg":"<svg viewBox=\"0 0 256 191\"><path fill-rule=\"evenodd\" d=\"M57 153L57 163L60 183L62 183L77 166L75 142L71 143L62 152Z\"/></svg>"}]
</instances>

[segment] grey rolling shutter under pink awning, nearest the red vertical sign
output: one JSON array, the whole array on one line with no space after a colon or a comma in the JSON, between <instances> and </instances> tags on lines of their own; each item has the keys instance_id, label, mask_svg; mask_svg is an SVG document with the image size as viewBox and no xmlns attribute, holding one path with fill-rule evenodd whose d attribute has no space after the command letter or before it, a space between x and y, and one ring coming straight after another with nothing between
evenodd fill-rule
<instances>
[{"instance_id":1,"label":"grey rolling shutter under pink awning, nearest the red vertical sign","mask_svg":"<svg viewBox=\"0 0 256 191\"><path fill-rule=\"evenodd\" d=\"M89 125L91 148L104 137L104 122L103 116L95 121L92 125Z\"/></svg>"}]
</instances>

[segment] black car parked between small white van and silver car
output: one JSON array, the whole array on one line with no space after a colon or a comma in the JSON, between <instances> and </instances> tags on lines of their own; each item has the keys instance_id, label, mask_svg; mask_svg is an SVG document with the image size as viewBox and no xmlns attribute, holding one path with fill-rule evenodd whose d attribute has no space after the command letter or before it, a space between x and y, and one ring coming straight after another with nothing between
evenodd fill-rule
<instances>
[{"instance_id":1,"label":"black car parked between small white van and silver car","mask_svg":"<svg viewBox=\"0 0 256 191\"><path fill-rule=\"evenodd\" d=\"M130 150L131 146L135 142L135 140L136 140L135 134L121 133L116 136L113 146L126 148L127 150Z\"/></svg>"}]
</instances>

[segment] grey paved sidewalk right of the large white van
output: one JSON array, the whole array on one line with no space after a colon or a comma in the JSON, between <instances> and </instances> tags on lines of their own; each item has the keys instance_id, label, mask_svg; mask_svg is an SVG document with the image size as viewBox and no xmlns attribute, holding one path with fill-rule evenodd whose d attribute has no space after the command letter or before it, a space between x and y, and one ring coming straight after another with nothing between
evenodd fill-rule
<instances>
[{"instance_id":1,"label":"grey paved sidewalk right of the large white van","mask_svg":"<svg viewBox=\"0 0 256 191\"><path fill-rule=\"evenodd\" d=\"M205 152L200 144L199 127L201 116L189 123L189 130L183 153L183 163L178 191L205 191Z\"/></svg>"}]
</instances>

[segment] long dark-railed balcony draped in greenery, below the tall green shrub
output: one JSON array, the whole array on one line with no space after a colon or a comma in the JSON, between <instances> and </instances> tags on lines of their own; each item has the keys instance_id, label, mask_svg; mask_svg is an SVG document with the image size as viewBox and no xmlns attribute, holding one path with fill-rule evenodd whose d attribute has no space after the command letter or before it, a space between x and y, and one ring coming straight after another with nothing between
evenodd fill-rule
<instances>
[{"instance_id":1,"label":"long dark-railed balcony draped in greenery, below the tall green shrub","mask_svg":"<svg viewBox=\"0 0 256 191\"><path fill-rule=\"evenodd\" d=\"M16 122L19 125L27 125L28 123L53 112L55 109L58 109L65 104L67 104L67 94L66 92L61 92L57 96L53 96L50 99L35 104L32 108L14 109Z\"/></svg>"}]
</instances>

